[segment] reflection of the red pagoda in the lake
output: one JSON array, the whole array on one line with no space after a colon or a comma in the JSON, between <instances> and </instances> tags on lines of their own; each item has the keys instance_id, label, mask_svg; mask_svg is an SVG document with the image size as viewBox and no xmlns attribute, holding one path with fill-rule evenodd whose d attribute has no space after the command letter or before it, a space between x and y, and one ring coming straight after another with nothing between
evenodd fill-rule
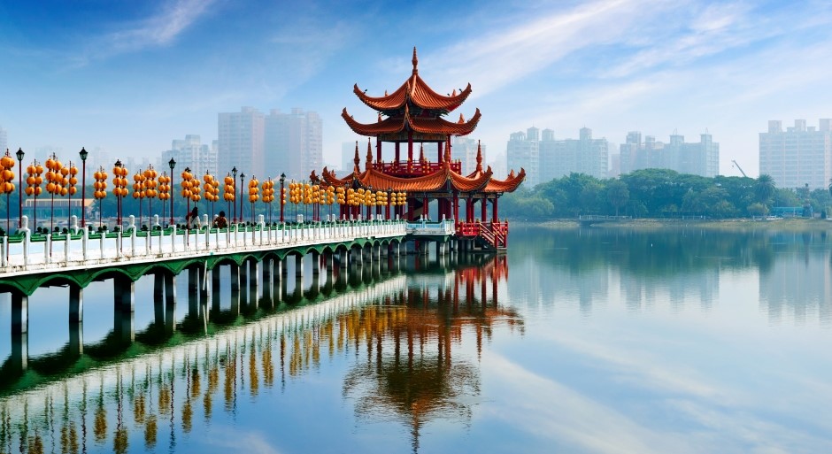
<instances>
[{"instance_id":1,"label":"reflection of the red pagoda in the lake","mask_svg":"<svg viewBox=\"0 0 832 454\"><path fill-rule=\"evenodd\" d=\"M505 257L496 257L489 264L456 270L453 288L440 289L436 296L425 281L387 303L392 305L344 314L342 325L350 327L347 337L357 349L360 341L366 342L366 363L354 366L343 385L345 396L356 399L357 415L402 421L410 427L414 452L429 420L471 419L480 373L465 359L452 358L451 347L470 338L467 331L475 337L479 358L483 336L490 339L497 325L522 332L519 314L497 304L497 280L506 272ZM490 302L489 281L494 285ZM478 282L479 299L467 290ZM466 297L460 301L463 286Z\"/></svg>"}]
</instances>

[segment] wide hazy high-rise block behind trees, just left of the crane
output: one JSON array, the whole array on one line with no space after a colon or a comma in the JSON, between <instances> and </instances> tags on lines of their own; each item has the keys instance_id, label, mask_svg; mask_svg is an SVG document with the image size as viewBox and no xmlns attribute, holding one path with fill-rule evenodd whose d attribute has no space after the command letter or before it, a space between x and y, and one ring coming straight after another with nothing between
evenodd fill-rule
<instances>
[{"instance_id":1,"label":"wide hazy high-rise block behind trees, just left of the crane","mask_svg":"<svg viewBox=\"0 0 832 454\"><path fill-rule=\"evenodd\" d=\"M620 173L641 169L670 169L678 173L689 173L714 177L720 173L720 144L705 132L699 135L699 142L685 142L683 135L670 135L670 142L658 142L652 135L632 131L627 142L622 143L620 152Z\"/></svg>"}]
</instances>

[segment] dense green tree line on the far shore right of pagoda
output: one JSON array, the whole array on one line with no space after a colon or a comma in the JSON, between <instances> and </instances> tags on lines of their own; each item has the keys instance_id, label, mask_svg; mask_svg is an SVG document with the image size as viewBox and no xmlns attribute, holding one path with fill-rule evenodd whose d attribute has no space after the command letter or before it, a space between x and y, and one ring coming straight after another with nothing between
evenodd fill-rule
<instances>
[{"instance_id":1,"label":"dense green tree line on the far shore right of pagoda","mask_svg":"<svg viewBox=\"0 0 832 454\"><path fill-rule=\"evenodd\" d=\"M634 218L711 219L765 216L773 207L801 207L803 212L832 210L825 189L778 189L771 176L713 178L668 169L644 169L618 178L597 179L583 173L520 187L500 199L500 215L509 219L575 218L582 214Z\"/></svg>"}]
</instances>

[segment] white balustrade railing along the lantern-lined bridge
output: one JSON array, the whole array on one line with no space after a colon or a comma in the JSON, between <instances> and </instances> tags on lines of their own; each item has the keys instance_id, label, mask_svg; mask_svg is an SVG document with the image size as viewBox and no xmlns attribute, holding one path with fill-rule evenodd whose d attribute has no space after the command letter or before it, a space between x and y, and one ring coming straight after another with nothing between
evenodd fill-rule
<instances>
[{"instance_id":1,"label":"white balustrade railing along the lantern-lined bridge","mask_svg":"<svg viewBox=\"0 0 832 454\"><path fill-rule=\"evenodd\" d=\"M28 219L22 219L22 236L2 237L0 279L50 270L83 269L153 262L177 258L234 254L244 251L279 250L358 238L404 236L402 220L313 222L266 226L263 217L254 226L235 224L228 228L197 227L187 231L174 226L153 232L139 231L133 219L123 233L74 233L31 235ZM207 218L203 224L208 226ZM452 223L451 223L452 225Z\"/></svg>"}]
</instances>

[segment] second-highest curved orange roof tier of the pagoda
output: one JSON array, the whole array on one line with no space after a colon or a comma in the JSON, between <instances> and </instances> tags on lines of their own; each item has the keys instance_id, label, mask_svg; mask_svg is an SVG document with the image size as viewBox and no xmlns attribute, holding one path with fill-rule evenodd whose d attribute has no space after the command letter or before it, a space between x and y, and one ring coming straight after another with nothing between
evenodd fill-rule
<instances>
[{"instance_id":1,"label":"second-highest curved orange roof tier of the pagoda","mask_svg":"<svg viewBox=\"0 0 832 454\"><path fill-rule=\"evenodd\" d=\"M375 123L359 123L351 117L346 108L341 112L341 117L356 134L369 136L395 134L408 129L429 135L469 135L474 132L481 116L480 109L477 109L471 119L465 121L460 118L460 121L455 123L441 118L412 116L409 106L405 105L403 116L388 117Z\"/></svg>"}]
</instances>

